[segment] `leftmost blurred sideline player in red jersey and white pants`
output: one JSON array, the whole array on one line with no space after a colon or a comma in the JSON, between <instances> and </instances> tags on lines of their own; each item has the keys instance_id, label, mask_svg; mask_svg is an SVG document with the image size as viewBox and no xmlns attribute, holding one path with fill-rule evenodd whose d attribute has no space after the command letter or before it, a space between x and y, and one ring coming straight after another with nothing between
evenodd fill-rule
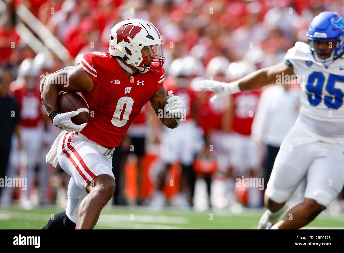
<instances>
[{"instance_id":1,"label":"leftmost blurred sideline player in red jersey and white pants","mask_svg":"<svg viewBox=\"0 0 344 253\"><path fill-rule=\"evenodd\" d=\"M11 153L11 163L9 166L9 177L14 177L18 167L23 166L20 177L27 178L28 187L21 192L20 203L25 209L31 209L30 193L35 182L35 168L42 165L42 149L44 143L44 109L41 104L41 94L39 89L39 65L32 59L25 59L18 70L18 78L13 83L14 97L19 105L22 152ZM40 168L42 170L42 168ZM43 174L46 172L42 170ZM11 176L12 175L12 176ZM39 177L41 174L37 173ZM40 178L39 184L46 186L47 178ZM13 188L6 191L7 199L12 196ZM45 188L40 188L39 197L45 202Z\"/></svg>"}]
</instances>

